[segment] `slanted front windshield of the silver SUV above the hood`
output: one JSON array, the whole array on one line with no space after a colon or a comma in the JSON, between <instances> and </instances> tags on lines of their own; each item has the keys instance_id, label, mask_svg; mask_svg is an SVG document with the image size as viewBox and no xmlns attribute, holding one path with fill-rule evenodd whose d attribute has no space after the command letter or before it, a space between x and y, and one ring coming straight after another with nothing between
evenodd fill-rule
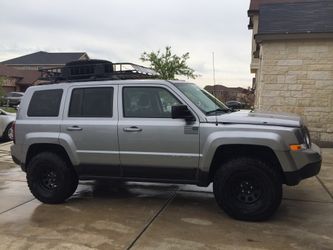
<instances>
[{"instance_id":1,"label":"slanted front windshield of the silver SUV above the hood","mask_svg":"<svg viewBox=\"0 0 333 250\"><path fill-rule=\"evenodd\" d=\"M174 83L174 85L206 115L230 112L220 100L193 83Z\"/></svg>"}]
</instances>

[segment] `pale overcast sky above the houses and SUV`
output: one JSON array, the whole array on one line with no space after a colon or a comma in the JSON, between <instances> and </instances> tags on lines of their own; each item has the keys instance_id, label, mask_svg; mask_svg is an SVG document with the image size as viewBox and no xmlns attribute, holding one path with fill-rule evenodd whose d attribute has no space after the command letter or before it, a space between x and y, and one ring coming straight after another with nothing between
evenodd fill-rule
<instances>
[{"instance_id":1,"label":"pale overcast sky above the houses and SUV","mask_svg":"<svg viewBox=\"0 0 333 250\"><path fill-rule=\"evenodd\" d=\"M145 66L141 54L190 53L202 87L251 86L249 0L1 1L0 61L37 51L87 52L90 58ZM180 79L184 79L180 77Z\"/></svg>"}]
</instances>

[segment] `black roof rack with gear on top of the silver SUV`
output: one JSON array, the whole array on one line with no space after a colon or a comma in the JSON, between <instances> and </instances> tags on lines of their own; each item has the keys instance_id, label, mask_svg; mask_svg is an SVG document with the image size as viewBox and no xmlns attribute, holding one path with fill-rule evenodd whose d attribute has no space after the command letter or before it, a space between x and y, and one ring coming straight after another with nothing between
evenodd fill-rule
<instances>
[{"instance_id":1,"label":"black roof rack with gear on top of the silver SUV","mask_svg":"<svg viewBox=\"0 0 333 250\"><path fill-rule=\"evenodd\" d=\"M106 60L79 60L64 67L40 69L44 84L91 80L156 79L158 74L150 68L134 63L112 63Z\"/></svg>"}]
</instances>

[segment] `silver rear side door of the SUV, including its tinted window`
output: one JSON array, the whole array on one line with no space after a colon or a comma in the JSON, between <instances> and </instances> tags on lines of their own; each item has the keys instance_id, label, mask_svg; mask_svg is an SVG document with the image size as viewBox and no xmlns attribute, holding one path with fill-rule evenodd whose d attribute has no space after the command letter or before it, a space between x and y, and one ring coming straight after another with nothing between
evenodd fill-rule
<instances>
[{"instance_id":1,"label":"silver rear side door of the SUV, including its tinted window","mask_svg":"<svg viewBox=\"0 0 333 250\"><path fill-rule=\"evenodd\" d=\"M61 132L75 151L81 176L120 176L117 88L69 88Z\"/></svg>"}]
</instances>

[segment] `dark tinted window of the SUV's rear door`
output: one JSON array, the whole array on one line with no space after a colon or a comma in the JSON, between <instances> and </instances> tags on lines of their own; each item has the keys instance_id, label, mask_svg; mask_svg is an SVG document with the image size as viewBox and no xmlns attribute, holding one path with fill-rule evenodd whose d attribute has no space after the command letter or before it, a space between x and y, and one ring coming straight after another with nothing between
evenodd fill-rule
<instances>
[{"instance_id":1,"label":"dark tinted window of the SUV's rear door","mask_svg":"<svg viewBox=\"0 0 333 250\"><path fill-rule=\"evenodd\" d=\"M77 88L72 92L69 117L112 117L113 88Z\"/></svg>"}]
</instances>

